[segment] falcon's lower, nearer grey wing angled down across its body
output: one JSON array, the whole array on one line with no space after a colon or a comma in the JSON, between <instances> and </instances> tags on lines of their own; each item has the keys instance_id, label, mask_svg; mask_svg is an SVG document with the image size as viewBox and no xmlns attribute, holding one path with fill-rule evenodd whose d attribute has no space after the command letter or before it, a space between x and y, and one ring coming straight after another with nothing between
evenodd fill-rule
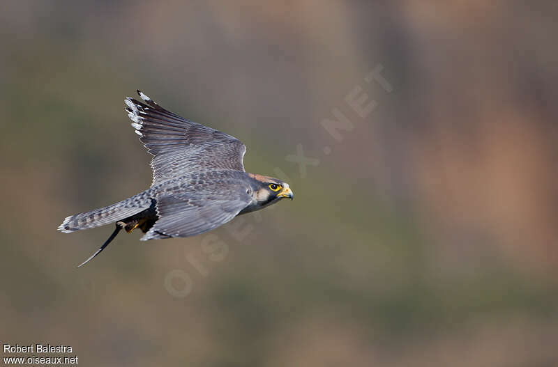
<instances>
[{"instance_id":1,"label":"falcon's lower, nearer grey wing angled down across its body","mask_svg":"<svg viewBox=\"0 0 558 367\"><path fill-rule=\"evenodd\" d=\"M160 194L157 196L159 219L141 240L188 237L211 231L236 217L251 200L241 185Z\"/></svg>"}]
</instances>

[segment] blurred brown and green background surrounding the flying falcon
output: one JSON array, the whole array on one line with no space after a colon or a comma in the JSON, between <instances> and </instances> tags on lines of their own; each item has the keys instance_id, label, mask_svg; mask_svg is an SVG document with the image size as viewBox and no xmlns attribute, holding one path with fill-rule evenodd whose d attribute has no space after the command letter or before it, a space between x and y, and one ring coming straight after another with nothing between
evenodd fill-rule
<instances>
[{"instance_id":1,"label":"blurred brown and green background surrounding the flying falcon","mask_svg":"<svg viewBox=\"0 0 558 367\"><path fill-rule=\"evenodd\" d=\"M1 8L3 343L83 366L558 365L554 1ZM295 200L123 233L77 270L112 227L62 219L151 184L136 88L241 139Z\"/></svg>"}]
</instances>

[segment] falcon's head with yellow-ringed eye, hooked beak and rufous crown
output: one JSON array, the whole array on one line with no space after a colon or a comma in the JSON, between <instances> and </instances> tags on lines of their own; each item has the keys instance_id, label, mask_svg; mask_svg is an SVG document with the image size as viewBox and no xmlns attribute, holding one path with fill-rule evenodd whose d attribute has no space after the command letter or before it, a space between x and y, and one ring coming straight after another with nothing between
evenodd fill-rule
<instances>
[{"instance_id":1,"label":"falcon's head with yellow-ringed eye, hooked beak and rufous crown","mask_svg":"<svg viewBox=\"0 0 558 367\"><path fill-rule=\"evenodd\" d=\"M243 212L263 209L268 205L277 203L282 198L292 200L294 192L292 192L287 182L283 182L278 178L255 175L253 173L248 173L248 175L252 178L251 189L248 193L252 196L252 203Z\"/></svg>"}]
</instances>

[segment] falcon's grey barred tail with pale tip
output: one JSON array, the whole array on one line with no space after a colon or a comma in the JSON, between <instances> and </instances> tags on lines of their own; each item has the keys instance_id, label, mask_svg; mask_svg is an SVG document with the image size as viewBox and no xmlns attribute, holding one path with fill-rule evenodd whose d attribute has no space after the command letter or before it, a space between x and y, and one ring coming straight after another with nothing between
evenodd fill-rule
<instances>
[{"instance_id":1,"label":"falcon's grey barred tail with pale tip","mask_svg":"<svg viewBox=\"0 0 558 367\"><path fill-rule=\"evenodd\" d=\"M105 208L70 215L70 217L64 219L62 224L58 227L58 230L63 233L72 233L80 229L105 226L119 221L120 219L130 217L133 214L137 214L149 208L150 205L151 197L147 192L142 192L141 194L137 194Z\"/></svg>"}]
</instances>

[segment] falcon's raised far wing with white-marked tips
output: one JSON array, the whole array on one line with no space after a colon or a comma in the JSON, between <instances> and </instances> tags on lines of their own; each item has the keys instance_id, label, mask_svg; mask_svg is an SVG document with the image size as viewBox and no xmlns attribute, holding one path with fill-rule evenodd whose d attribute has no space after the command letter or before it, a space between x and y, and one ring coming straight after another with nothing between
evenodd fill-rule
<instances>
[{"instance_id":1,"label":"falcon's raised far wing with white-marked tips","mask_svg":"<svg viewBox=\"0 0 558 367\"><path fill-rule=\"evenodd\" d=\"M124 102L135 132L153 155L153 184L193 172L232 169L244 171L246 153L239 139L194 123L160 107L141 91L144 102Z\"/></svg>"}]
</instances>

